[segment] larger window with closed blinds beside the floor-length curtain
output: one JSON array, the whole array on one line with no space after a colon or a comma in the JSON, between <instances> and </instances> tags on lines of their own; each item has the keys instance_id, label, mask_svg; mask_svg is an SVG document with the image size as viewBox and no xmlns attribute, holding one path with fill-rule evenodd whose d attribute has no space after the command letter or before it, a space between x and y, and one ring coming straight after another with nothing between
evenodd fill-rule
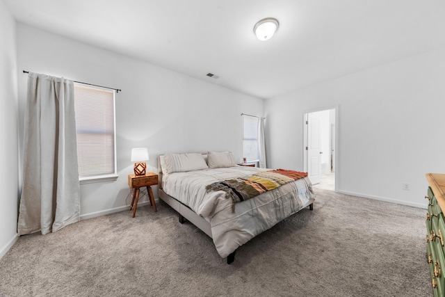
<instances>
[{"instance_id":1,"label":"larger window with closed blinds beside the floor-length curtain","mask_svg":"<svg viewBox=\"0 0 445 297\"><path fill-rule=\"evenodd\" d=\"M74 84L79 179L116 177L115 91Z\"/></svg>"}]
</instances>

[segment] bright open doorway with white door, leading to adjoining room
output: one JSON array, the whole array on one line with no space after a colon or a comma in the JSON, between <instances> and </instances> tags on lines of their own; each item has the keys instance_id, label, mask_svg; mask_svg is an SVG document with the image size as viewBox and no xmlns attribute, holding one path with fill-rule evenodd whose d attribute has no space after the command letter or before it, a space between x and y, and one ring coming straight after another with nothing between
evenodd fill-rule
<instances>
[{"instance_id":1,"label":"bright open doorway with white door, leading to adjoining room","mask_svg":"<svg viewBox=\"0 0 445 297\"><path fill-rule=\"evenodd\" d=\"M335 191L337 109L305 113L304 166L316 188Z\"/></svg>"}]
</instances>

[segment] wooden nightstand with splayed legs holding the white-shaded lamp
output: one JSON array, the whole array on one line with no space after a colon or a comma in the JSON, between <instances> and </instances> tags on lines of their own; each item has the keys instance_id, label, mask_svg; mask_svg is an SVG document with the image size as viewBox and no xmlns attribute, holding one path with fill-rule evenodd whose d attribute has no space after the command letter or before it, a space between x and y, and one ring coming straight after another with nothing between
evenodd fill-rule
<instances>
[{"instance_id":1,"label":"wooden nightstand with splayed legs holding the white-shaded lamp","mask_svg":"<svg viewBox=\"0 0 445 297\"><path fill-rule=\"evenodd\" d=\"M133 198L131 198L130 209L133 210L131 217L134 218L136 216L136 209L138 208L138 200L139 200L139 188L143 186L147 187L147 193L150 200L150 204L153 207L154 211L158 211L156 209L156 202L154 202L154 196L151 186L155 186L158 184L159 179L158 175L154 172L147 172L145 175L128 175L128 185L130 188L133 188Z\"/></svg>"}]
</instances>

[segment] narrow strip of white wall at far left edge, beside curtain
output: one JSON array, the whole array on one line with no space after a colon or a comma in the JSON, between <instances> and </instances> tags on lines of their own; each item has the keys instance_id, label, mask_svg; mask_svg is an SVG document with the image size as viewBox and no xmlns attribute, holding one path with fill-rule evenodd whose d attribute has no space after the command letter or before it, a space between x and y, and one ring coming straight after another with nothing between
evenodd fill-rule
<instances>
[{"instance_id":1,"label":"narrow strip of white wall at far left edge, beside curtain","mask_svg":"<svg viewBox=\"0 0 445 297\"><path fill-rule=\"evenodd\" d=\"M0 258L17 240L19 170L15 20L0 0Z\"/></svg>"}]
</instances>

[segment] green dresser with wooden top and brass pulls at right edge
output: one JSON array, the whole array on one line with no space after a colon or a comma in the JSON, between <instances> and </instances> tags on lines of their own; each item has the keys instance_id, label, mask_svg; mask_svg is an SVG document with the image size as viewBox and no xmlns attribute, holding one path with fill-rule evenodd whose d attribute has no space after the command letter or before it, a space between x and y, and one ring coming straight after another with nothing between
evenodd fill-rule
<instances>
[{"instance_id":1,"label":"green dresser with wooden top and brass pulls at right edge","mask_svg":"<svg viewBox=\"0 0 445 297\"><path fill-rule=\"evenodd\" d=\"M445 296L445 174L427 173L428 212L426 213L427 261L430 264L434 296Z\"/></svg>"}]
</instances>

